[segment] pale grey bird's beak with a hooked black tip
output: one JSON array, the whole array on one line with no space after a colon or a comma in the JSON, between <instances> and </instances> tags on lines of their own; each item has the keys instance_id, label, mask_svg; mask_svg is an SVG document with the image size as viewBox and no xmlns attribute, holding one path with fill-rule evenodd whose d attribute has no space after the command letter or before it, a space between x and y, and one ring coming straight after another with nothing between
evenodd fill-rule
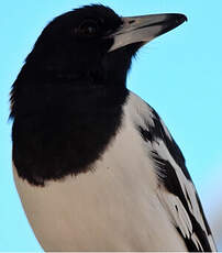
<instances>
[{"instance_id":1,"label":"pale grey bird's beak with a hooked black tip","mask_svg":"<svg viewBox=\"0 0 222 253\"><path fill-rule=\"evenodd\" d=\"M120 29L110 35L110 37L114 38L114 43L109 52L137 42L145 44L158 35L177 28L187 21L187 16L167 13L127 16L122 18L122 21L123 24Z\"/></svg>"}]
</instances>

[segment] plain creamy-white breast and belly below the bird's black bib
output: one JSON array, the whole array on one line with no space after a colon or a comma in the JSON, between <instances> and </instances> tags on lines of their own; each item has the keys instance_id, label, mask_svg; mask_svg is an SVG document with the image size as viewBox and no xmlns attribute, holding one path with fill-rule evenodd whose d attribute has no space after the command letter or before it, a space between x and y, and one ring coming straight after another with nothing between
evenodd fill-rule
<instances>
[{"instance_id":1,"label":"plain creamy-white breast and belly below the bird's black bib","mask_svg":"<svg viewBox=\"0 0 222 253\"><path fill-rule=\"evenodd\" d=\"M27 219L45 251L186 251L160 205L147 148L132 123L122 128L93 170L48 182L14 180Z\"/></svg>"}]
</instances>

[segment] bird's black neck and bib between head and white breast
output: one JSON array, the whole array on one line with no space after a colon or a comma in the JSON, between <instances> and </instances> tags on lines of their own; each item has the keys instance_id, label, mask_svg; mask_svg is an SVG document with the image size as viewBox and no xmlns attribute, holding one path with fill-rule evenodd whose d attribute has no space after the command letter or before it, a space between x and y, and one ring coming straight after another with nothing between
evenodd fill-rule
<instances>
[{"instance_id":1,"label":"bird's black neck and bib between head and white breast","mask_svg":"<svg viewBox=\"0 0 222 253\"><path fill-rule=\"evenodd\" d=\"M13 122L13 162L31 184L87 172L115 135L124 86L64 81L20 84Z\"/></svg>"}]
</instances>

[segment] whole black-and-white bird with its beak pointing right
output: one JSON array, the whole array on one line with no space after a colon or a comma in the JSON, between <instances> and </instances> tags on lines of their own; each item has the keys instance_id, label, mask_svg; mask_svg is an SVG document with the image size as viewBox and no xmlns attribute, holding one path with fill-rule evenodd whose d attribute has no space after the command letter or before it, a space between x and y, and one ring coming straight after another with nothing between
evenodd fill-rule
<instances>
[{"instance_id":1,"label":"whole black-and-white bird with its beak pointing right","mask_svg":"<svg viewBox=\"0 0 222 253\"><path fill-rule=\"evenodd\" d=\"M180 148L126 88L140 48L185 21L89 4L36 40L10 118L15 186L44 251L217 251Z\"/></svg>"}]
</instances>

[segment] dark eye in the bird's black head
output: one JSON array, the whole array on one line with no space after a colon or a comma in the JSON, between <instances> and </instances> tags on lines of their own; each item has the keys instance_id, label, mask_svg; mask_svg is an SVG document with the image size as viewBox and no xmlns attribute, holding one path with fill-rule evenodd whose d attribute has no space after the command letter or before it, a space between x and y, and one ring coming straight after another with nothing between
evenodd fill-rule
<instances>
[{"instance_id":1,"label":"dark eye in the bird's black head","mask_svg":"<svg viewBox=\"0 0 222 253\"><path fill-rule=\"evenodd\" d=\"M86 20L78 26L75 33L82 36L95 36L98 30L98 23L95 20Z\"/></svg>"}]
</instances>

